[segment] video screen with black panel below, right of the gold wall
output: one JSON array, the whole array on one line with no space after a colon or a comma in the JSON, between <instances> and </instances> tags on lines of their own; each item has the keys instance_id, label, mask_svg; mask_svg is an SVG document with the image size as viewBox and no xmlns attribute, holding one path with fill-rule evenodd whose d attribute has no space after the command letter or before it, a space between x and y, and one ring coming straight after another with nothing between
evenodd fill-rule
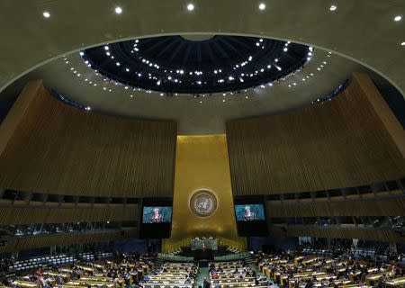
<instances>
[{"instance_id":1,"label":"video screen with black panel below, right of the gold wall","mask_svg":"<svg viewBox=\"0 0 405 288\"><path fill-rule=\"evenodd\" d=\"M235 217L239 236L267 236L267 221L262 197L235 198Z\"/></svg>"}]
</instances>

